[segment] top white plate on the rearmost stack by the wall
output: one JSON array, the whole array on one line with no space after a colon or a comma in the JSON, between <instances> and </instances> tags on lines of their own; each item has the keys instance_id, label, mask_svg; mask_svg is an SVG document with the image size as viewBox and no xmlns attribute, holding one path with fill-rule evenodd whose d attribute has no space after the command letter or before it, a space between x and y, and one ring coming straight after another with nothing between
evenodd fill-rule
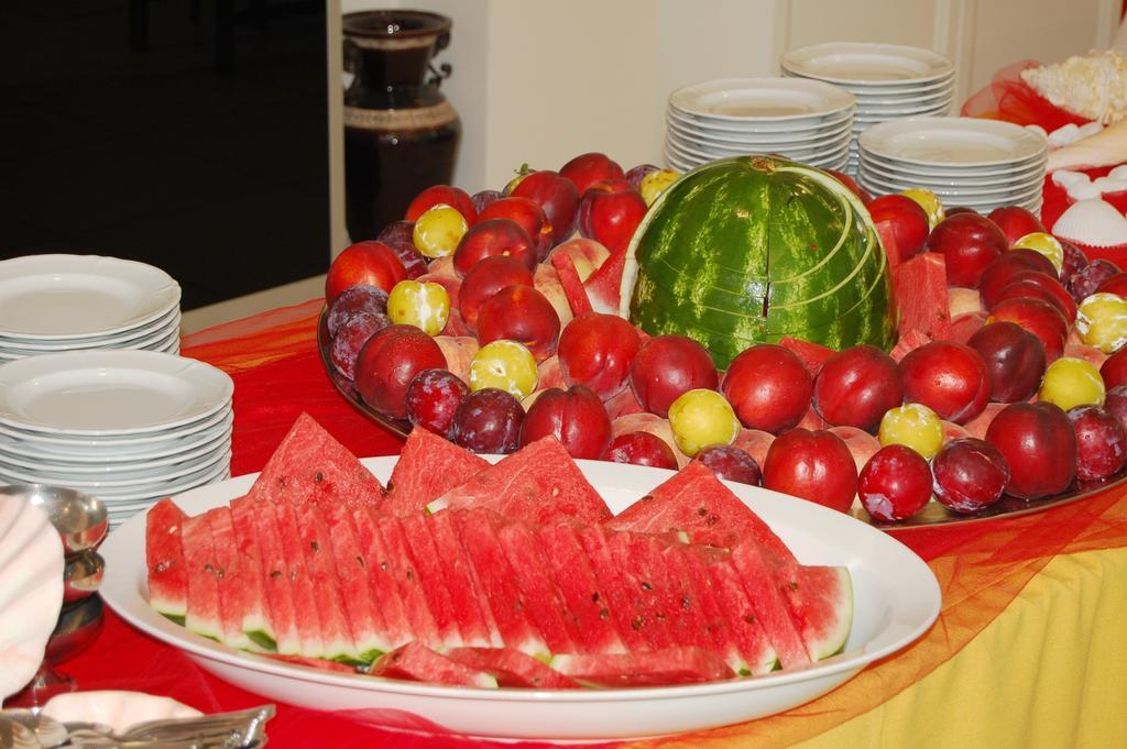
<instances>
[{"instance_id":1,"label":"top white plate on the rearmost stack by the wall","mask_svg":"<svg viewBox=\"0 0 1127 749\"><path fill-rule=\"evenodd\" d=\"M783 53L783 70L843 86L898 86L942 80L955 65L941 54L899 44L828 42Z\"/></svg>"}]
</instances>

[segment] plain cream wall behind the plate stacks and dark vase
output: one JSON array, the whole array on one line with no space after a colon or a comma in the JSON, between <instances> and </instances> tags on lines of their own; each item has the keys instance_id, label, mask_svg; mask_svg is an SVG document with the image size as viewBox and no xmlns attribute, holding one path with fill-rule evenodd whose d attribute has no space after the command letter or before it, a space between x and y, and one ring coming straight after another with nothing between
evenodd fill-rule
<instances>
[{"instance_id":1,"label":"plain cream wall behind the plate stacks and dark vase","mask_svg":"<svg viewBox=\"0 0 1127 749\"><path fill-rule=\"evenodd\" d=\"M585 151L662 162L669 91L773 75L788 48L871 41L934 48L959 68L958 101L1002 65L1107 46L1119 0L334 0L344 12L415 7L450 16L462 118L454 181L500 188L523 162ZM330 10L331 12L331 10ZM331 54L331 53L330 53Z\"/></svg>"}]
</instances>

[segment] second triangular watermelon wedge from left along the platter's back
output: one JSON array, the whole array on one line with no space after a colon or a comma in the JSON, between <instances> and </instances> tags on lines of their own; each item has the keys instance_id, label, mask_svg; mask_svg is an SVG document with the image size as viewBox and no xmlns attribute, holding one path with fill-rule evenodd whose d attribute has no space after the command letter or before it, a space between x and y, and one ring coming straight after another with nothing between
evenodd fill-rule
<instances>
[{"instance_id":1,"label":"second triangular watermelon wedge from left along the platter's back","mask_svg":"<svg viewBox=\"0 0 1127 749\"><path fill-rule=\"evenodd\" d=\"M427 502L489 467L489 462L449 439L415 427L399 453L380 512L421 512Z\"/></svg>"}]
</instances>

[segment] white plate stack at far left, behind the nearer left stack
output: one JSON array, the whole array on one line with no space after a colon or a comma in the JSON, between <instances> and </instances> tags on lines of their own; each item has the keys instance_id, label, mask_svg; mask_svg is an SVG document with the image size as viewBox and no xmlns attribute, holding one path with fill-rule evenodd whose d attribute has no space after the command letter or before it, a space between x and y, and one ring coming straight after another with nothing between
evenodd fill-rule
<instances>
[{"instance_id":1,"label":"white plate stack at far left, behind the nearer left stack","mask_svg":"<svg viewBox=\"0 0 1127 749\"><path fill-rule=\"evenodd\" d=\"M0 362L59 351L180 351L180 286L153 266L95 255L0 261Z\"/></svg>"}]
</instances>

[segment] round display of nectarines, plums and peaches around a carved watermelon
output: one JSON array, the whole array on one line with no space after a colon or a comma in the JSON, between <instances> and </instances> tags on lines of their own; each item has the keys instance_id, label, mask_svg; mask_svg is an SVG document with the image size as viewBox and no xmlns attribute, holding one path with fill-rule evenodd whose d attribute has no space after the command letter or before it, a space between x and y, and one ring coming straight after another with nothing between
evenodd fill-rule
<instances>
[{"instance_id":1,"label":"round display of nectarines, plums and peaches around a carved watermelon","mask_svg":"<svg viewBox=\"0 0 1127 749\"><path fill-rule=\"evenodd\" d=\"M411 244L450 211L454 246ZM332 264L318 339L337 389L403 436L499 454L552 436L898 525L1124 471L1127 273L1020 207L869 196L773 157L678 178L587 153L426 190L380 237Z\"/></svg>"}]
</instances>

